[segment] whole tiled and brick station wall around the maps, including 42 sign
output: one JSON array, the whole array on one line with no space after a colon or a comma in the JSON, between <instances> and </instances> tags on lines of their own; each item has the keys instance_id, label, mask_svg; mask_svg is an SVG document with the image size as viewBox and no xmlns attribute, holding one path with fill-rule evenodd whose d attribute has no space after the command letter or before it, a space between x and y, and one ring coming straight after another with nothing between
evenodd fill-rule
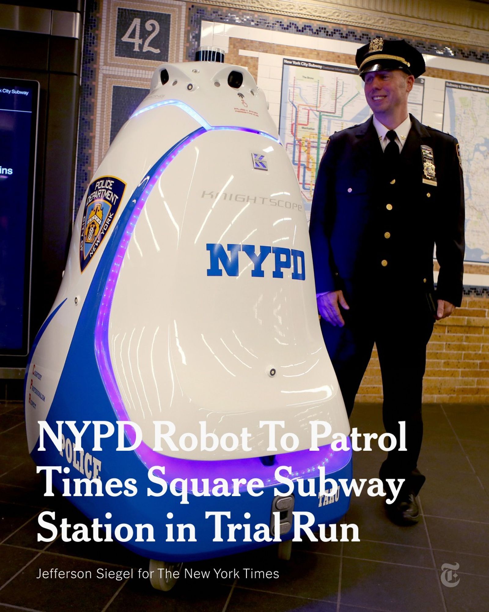
<instances>
[{"instance_id":1,"label":"whole tiled and brick station wall around the maps, including 42 sign","mask_svg":"<svg viewBox=\"0 0 489 612\"><path fill-rule=\"evenodd\" d=\"M348 67L359 45L376 35L399 34L299 17L248 12L179 0L98 0L84 37L83 97L75 209L111 140L149 89L161 61L193 60L200 44L221 47L226 61L248 67L270 102L279 124L284 58L303 58ZM411 36L405 38L427 59L422 119L443 129L445 81L489 86L489 53ZM462 149L463 151L463 149ZM428 345L425 401L489 400L489 295L471 288L489 264L469 264L462 308L435 325ZM475 280L474 280L475 279ZM489 280L485 286L489 286ZM399 321L399 341L402 319ZM406 339L408 341L408 339ZM359 391L363 401L381 401L377 356L373 355Z\"/></svg>"}]
</instances>

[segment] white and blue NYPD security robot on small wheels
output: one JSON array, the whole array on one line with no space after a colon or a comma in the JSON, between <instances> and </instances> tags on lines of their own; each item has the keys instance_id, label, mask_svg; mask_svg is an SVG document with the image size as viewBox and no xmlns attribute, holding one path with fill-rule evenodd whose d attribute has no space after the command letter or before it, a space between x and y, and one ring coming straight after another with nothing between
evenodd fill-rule
<instances>
[{"instance_id":1,"label":"white and blue NYPD security robot on small wheels","mask_svg":"<svg viewBox=\"0 0 489 612\"><path fill-rule=\"evenodd\" d=\"M288 558L296 512L314 515L314 530L349 503L342 492L325 502L296 490L303 479L317 484L320 468L351 479L351 450L331 449L333 433L350 427L320 332L292 164L248 71L224 64L219 50L197 56L156 69L90 181L25 380L34 462L59 468L50 477L65 494L80 478L105 491L114 478L137 481L137 494L68 494L101 524L161 526L154 541L119 538L153 569L270 545L227 531L216 541L206 512L269 526ZM127 421L136 425L122 426L122 442L109 436ZM43 422L57 444L40 438ZM89 423L78 448L67 422L79 431ZM318 450L309 450L311 422L331 426ZM194 443L204 430L211 452ZM163 489L148 480L155 466L176 479L174 494L147 494ZM287 490L278 466L290 468L285 496L274 494ZM182 503L183 480L197 479L201 493L216 477L240 478L240 494L189 493ZM263 486L250 493L244 482L254 478ZM196 541L177 541L176 528L171 537L171 518L193 524ZM164 575L151 580L172 586Z\"/></svg>"}]
</instances>

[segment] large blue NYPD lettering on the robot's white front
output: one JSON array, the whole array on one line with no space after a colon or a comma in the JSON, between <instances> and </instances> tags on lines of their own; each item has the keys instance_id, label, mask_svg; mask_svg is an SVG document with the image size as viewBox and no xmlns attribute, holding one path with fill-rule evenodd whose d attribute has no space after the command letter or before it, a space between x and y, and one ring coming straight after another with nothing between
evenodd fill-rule
<instances>
[{"instance_id":1,"label":"large blue NYPD lettering on the robot's white front","mask_svg":"<svg viewBox=\"0 0 489 612\"><path fill-rule=\"evenodd\" d=\"M251 269L252 277L263 277L265 272L262 270L263 261L270 253L275 258L275 269L273 278L284 278L284 269L292 269L293 280L305 280L306 269L304 268L304 251L296 250L295 248L284 247L265 247L260 246L259 253L255 252L254 244L228 244L227 251L224 250L222 244L218 242L208 242L207 250L210 255L210 267L207 270L207 276L222 276L222 269L228 276L238 276L240 273L239 252L246 253L248 258L241 257L243 263L249 265L251 260L253 267ZM222 264L222 269L219 264ZM243 269L243 268L242 268Z\"/></svg>"}]
</instances>

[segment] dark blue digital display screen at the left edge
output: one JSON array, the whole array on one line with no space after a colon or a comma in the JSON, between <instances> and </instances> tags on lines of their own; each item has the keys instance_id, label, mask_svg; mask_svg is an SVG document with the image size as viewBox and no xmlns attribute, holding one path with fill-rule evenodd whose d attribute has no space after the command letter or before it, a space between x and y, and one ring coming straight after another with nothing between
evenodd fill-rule
<instances>
[{"instance_id":1,"label":"dark blue digital display screen at the left edge","mask_svg":"<svg viewBox=\"0 0 489 612\"><path fill-rule=\"evenodd\" d=\"M0 354L29 349L39 83L0 78Z\"/></svg>"}]
</instances>

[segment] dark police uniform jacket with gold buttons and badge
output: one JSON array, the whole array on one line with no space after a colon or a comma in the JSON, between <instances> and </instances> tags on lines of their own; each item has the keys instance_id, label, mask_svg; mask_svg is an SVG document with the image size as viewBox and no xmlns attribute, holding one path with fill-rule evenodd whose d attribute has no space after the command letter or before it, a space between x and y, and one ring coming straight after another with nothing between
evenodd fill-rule
<instances>
[{"instance_id":1,"label":"dark police uniform jacket with gold buttons and badge","mask_svg":"<svg viewBox=\"0 0 489 612\"><path fill-rule=\"evenodd\" d=\"M405 297L432 292L436 244L436 299L460 305L465 216L457 140L410 118L391 173L373 118L329 138L309 226L317 293L342 289L358 302L374 288ZM434 179L425 174L426 152Z\"/></svg>"}]
</instances>

